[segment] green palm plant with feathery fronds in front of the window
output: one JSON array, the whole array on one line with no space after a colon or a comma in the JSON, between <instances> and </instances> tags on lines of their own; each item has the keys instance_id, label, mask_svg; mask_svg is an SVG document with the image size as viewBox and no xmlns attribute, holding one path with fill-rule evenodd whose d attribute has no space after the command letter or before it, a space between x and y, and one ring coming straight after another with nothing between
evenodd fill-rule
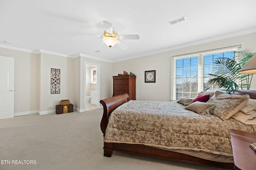
<instances>
[{"instance_id":1,"label":"green palm plant with feathery fronds in front of the window","mask_svg":"<svg viewBox=\"0 0 256 170\"><path fill-rule=\"evenodd\" d=\"M208 74L212 78L208 84L216 84L219 88L236 91L238 89L250 90L253 74L240 74L240 70L254 55L250 49L235 51L234 59L224 58L214 61L215 72Z\"/></svg>"}]
</instances>

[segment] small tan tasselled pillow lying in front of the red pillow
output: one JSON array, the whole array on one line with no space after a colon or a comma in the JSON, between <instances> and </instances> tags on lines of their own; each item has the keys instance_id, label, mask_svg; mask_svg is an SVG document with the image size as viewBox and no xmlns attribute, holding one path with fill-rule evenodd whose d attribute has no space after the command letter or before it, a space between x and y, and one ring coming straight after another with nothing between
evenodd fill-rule
<instances>
[{"instance_id":1,"label":"small tan tasselled pillow lying in front of the red pillow","mask_svg":"<svg viewBox=\"0 0 256 170\"><path fill-rule=\"evenodd\" d=\"M186 106L185 109L194 111L201 115L211 115L213 113L213 110L215 109L215 105L197 101Z\"/></svg>"}]
</instances>

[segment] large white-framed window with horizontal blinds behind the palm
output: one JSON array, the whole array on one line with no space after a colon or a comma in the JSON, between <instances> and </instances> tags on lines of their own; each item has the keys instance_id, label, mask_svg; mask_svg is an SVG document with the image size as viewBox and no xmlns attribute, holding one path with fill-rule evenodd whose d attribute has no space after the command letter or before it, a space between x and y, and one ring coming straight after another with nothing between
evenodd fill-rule
<instances>
[{"instance_id":1,"label":"large white-framed window with horizontal blinds behind the palm","mask_svg":"<svg viewBox=\"0 0 256 170\"><path fill-rule=\"evenodd\" d=\"M241 45L201 51L186 55L173 56L173 78L171 100L194 98L198 92L207 88L218 88L214 84L207 84L214 73L216 59L234 58L234 51L240 51Z\"/></svg>"}]
</instances>

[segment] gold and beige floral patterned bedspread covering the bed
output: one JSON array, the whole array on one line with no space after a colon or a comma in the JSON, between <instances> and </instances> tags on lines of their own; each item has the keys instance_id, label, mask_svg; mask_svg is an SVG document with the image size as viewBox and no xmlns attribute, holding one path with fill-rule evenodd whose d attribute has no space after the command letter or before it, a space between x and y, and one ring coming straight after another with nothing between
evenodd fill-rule
<instances>
[{"instance_id":1,"label":"gold and beige floral patterned bedspread covering the bed","mask_svg":"<svg viewBox=\"0 0 256 170\"><path fill-rule=\"evenodd\" d=\"M232 156L229 129L255 132L256 125L245 125L233 118L223 121L214 115L200 115L176 102L131 100L111 113L104 142Z\"/></svg>"}]
</instances>

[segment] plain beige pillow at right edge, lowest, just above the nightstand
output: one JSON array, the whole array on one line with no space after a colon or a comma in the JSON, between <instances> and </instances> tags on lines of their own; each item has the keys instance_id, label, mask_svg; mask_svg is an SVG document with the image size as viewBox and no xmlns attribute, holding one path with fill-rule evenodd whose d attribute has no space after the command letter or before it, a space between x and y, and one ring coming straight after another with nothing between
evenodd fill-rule
<instances>
[{"instance_id":1,"label":"plain beige pillow at right edge, lowest, just above the nightstand","mask_svg":"<svg viewBox=\"0 0 256 170\"><path fill-rule=\"evenodd\" d=\"M245 114L242 111L238 111L232 116L232 118L246 124L246 125L256 125L256 111L253 115Z\"/></svg>"}]
</instances>

